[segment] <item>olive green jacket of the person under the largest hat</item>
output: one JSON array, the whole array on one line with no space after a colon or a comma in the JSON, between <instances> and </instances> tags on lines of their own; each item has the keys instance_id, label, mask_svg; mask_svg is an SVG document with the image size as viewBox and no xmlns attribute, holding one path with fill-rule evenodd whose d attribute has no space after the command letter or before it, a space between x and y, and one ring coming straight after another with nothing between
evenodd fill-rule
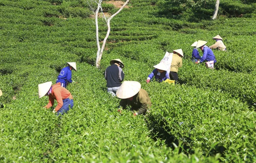
<instances>
[{"instance_id":1,"label":"olive green jacket of the person under the largest hat","mask_svg":"<svg viewBox=\"0 0 256 163\"><path fill-rule=\"evenodd\" d=\"M138 114L145 114L151 107L151 101L148 93L142 88L140 88L139 93L133 96L131 101L129 98L126 98L122 99L119 104L123 109L125 109L127 105L131 105L131 110L138 110Z\"/></svg>"}]
</instances>

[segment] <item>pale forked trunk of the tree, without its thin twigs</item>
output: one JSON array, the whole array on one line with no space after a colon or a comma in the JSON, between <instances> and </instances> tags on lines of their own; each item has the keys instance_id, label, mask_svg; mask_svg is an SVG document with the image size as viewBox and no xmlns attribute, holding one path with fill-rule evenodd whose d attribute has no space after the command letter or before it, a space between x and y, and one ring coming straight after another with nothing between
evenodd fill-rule
<instances>
[{"instance_id":1,"label":"pale forked trunk of the tree, without its thin twigs","mask_svg":"<svg viewBox=\"0 0 256 163\"><path fill-rule=\"evenodd\" d=\"M123 4L123 6L115 14L113 14L111 17L108 18L108 20L107 20L108 31L107 31L106 37L104 38L104 40L102 42L102 47L101 48L99 48L99 31L98 31L99 29L97 28L98 20L95 19L95 21L96 21L96 37L97 37L96 39L97 39L97 45L98 45L97 58L96 58L96 67L97 68L99 68L99 66L100 66L100 60L102 58L102 53L104 51L104 48L105 48L105 45L106 45L106 41L107 41L108 36L110 34L110 30L111 30L111 28L110 28L110 20L114 16L116 16L127 5L128 2L129 2L129 0L126 0L126 2ZM101 4L98 4L98 8L99 8L99 6L101 6ZM97 14L98 14L97 11L99 12L98 8L96 10L96 17L97 17ZM98 33L98 35L97 35L97 33Z\"/></svg>"}]
</instances>

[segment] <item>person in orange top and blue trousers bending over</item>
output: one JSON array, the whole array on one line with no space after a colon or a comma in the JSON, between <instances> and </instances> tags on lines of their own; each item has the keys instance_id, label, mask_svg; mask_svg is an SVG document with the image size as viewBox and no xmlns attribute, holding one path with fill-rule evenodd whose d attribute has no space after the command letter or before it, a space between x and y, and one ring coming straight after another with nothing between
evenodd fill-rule
<instances>
[{"instance_id":1,"label":"person in orange top and blue trousers bending over","mask_svg":"<svg viewBox=\"0 0 256 163\"><path fill-rule=\"evenodd\" d=\"M46 82L43 84L38 84L38 96L39 98L43 96L49 96L49 103L45 108L49 109L53 106L54 100L57 100L57 106L52 111L57 112L57 115L63 115L74 105L73 96L64 87L61 87L61 83L52 85L52 82Z\"/></svg>"}]
</instances>

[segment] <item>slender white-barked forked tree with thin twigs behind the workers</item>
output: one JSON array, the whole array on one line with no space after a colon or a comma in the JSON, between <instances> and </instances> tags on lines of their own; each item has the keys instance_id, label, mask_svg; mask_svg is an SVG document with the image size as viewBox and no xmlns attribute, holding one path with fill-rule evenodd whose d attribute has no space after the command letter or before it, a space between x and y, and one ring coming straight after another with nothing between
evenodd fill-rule
<instances>
[{"instance_id":1,"label":"slender white-barked forked tree with thin twigs behind the workers","mask_svg":"<svg viewBox=\"0 0 256 163\"><path fill-rule=\"evenodd\" d=\"M97 9L94 13L95 15L95 24L96 24L96 42L97 42L97 47L98 47L98 51L97 51L97 57L96 57L96 67L99 68L100 67L100 60L102 58L102 53L104 51L104 48L105 48L105 45L106 45L106 41L108 39L108 36L109 36L109 33L110 33L110 21L111 19L116 16L126 5L127 3L129 2L129 0L126 0L126 2L122 5L121 8L119 8L119 10L113 14L111 17L109 17L108 19L105 17L103 11L102 11L102 1L103 0L94 0L93 2L97 4ZM92 2L92 1L90 1ZM93 8L91 7L91 10L93 10ZM99 11L101 10L102 14L103 14L103 17L107 23L107 26L108 26L108 31L107 31L107 34L102 42L102 46L100 47L100 44L99 44L99 25L98 25L98 14L99 14Z\"/></svg>"}]
</instances>

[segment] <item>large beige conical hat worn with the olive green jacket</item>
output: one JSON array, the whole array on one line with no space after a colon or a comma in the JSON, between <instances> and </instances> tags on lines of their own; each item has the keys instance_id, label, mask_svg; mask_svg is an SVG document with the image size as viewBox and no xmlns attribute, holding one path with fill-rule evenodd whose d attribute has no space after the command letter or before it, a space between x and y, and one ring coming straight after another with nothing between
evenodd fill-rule
<instances>
[{"instance_id":1,"label":"large beige conical hat worn with the olive green jacket","mask_svg":"<svg viewBox=\"0 0 256 163\"><path fill-rule=\"evenodd\" d=\"M116 96L121 99L130 98L140 91L140 83L135 81L124 81L116 91Z\"/></svg>"}]
</instances>

